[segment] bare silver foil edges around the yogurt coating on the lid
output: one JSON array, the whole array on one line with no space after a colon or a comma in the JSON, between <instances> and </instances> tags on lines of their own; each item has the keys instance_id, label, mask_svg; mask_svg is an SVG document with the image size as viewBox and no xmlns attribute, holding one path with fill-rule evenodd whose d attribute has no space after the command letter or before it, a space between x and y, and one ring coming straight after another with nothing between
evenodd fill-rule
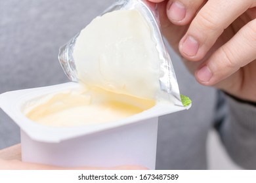
<instances>
[{"instance_id":1,"label":"bare silver foil edges around the yogurt coating on the lid","mask_svg":"<svg viewBox=\"0 0 256 183\"><path fill-rule=\"evenodd\" d=\"M171 63L171 58L165 44L163 42L163 36L161 34L161 25L158 16L158 8L156 4L151 3L147 0L119 0L109 8L107 8L101 15L114 10L133 10L137 9L141 12L144 18L148 21L148 24L152 27L152 37L156 41L156 48L159 53L161 60L161 76L160 76L160 87L161 97L168 99L175 103L175 105L182 106L181 96L179 92L179 85ZM68 76L68 78L74 82L78 81L77 72L75 69L75 62L73 58L74 45L79 33L75 35L67 44L60 47L58 59L62 69Z\"/></svg>"}]
</instances>

